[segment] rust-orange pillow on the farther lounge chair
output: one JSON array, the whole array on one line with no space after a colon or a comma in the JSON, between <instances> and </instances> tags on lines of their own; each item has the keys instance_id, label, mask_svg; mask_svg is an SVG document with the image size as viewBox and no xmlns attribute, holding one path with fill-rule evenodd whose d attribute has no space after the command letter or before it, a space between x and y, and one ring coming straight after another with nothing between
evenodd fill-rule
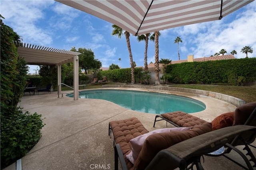
<instances>
[{"instance_id":1,"label":"rust-orange pillow on the farther lounge chair","mask_svg":"<svg viewBox=\"0 0 256 170\"><path fill-rule=\"evenodd\" d=\"M234 111L223 113L213 119L212 121L212 130L221 129L223 127L232 126L234 122Z\"/></svg>"}]
</instances>

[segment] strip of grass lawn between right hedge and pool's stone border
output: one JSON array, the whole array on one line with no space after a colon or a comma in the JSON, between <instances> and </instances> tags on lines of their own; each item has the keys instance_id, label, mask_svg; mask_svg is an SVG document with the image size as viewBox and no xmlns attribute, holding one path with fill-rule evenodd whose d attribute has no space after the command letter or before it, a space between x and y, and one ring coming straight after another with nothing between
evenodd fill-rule
<instances>
[{"instance_id":1,"label":"strip of grass lawn between right hedge and pool's stone border","mask_svg":"<svg viewBox=\"0 0 256 170\"><path fill-rule=\"evenodd\" d=\"M217 92L226 94L229 96L234 96L244 100L246 103L256 101L256 86L219 86L219 85L171 85L171 87L180 87L180 88L192 88L197 90L206 90L211 92Z\"/></svg>"}]
</instances>

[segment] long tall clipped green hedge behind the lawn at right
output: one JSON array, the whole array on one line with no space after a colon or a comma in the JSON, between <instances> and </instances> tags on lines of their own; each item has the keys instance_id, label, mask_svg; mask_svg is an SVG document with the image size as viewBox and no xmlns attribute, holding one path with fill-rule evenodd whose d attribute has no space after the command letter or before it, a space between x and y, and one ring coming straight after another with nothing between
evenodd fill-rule
<instances>
[{"instance_id":1,"label":"long tall clipped green hedge behind the lawn at right","mask_svg":"<svg viewBox=\"0 0 256 170\"><path fill-rule=\"evenodd\" d=\"M256 80L256 58L170 64L169 82L243 85Z\"/></svg>"}]
</instances>

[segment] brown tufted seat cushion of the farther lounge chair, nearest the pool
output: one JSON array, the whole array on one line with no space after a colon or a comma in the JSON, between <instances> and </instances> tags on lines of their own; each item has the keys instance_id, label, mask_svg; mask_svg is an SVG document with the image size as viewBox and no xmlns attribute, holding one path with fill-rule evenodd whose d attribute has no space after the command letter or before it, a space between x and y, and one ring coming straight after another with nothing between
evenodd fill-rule
<instances>
[{"instance_id":1,"label":"brown tufted seat cushion of the farther lounge chair, nearest the pool","mask_svg":"<svg viewBox=\"0 0 256 170\"><path fill-rule=\"evenodd\" d=\"M162 117L176 123L180 127L194 127L195 125L200 125L202 123L207 123L199 117L193 116L182 111L174 111L171 113L161 114Z\"/></svg>"}]
</instances>

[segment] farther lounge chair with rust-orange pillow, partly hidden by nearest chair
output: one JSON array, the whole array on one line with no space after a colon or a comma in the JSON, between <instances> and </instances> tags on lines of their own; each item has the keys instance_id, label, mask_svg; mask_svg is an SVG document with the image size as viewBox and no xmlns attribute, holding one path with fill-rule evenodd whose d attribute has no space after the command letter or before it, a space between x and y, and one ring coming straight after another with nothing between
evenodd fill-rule
<instances>
[{"instance_id":1,"label":"farther lounge chair with rust-orange pillow, partly hidden by nearest chair","mask_svg":"<svg viewBox=\"0 0 256 170\"><path fill-rule=\"evenodd\" d=\"M161 119L156 120L157 117L160 117ZM199 125L201 123L204 123L204 120L200 120L198 117L189 115L181 111L157 115L154 121L154 126L156 121L161 121L161 120L166 120L166 123L167 122L171 123L176 127L193 127L194 125ZM212 130L215 131L217 129L222 129L224 127L229 127L234 125L250 125L250 126L256 127L256 102L238 106L234 112L224 113L216 117L212 121ZM255 141L255 138L256 138L255 131L250 133L242 133L241 135L235 137L232 141L230 141L224 146L226 150L222 147L223 151L220 154L206 154L206 155L207 156L223 155L224 157L238 164L242 168L251 170L253 169L252 167L256 168L256 158L252 153L252 151L250 150L250 147L254 147L251 145L251 143ZM248 152L246 155L250 156L250 161L253 162L254 165L251 165L249 159L240 150L236 148L236 146L238 145L244 145L244 150ZM231 150L234 150L235 152L240 154L240 156L242 156L248 168L244 167L243 165L239 164L238 162L236 162L235 160L233 160L228 156L228 153L230 153Z\"/></svg>"}]
</instances>

